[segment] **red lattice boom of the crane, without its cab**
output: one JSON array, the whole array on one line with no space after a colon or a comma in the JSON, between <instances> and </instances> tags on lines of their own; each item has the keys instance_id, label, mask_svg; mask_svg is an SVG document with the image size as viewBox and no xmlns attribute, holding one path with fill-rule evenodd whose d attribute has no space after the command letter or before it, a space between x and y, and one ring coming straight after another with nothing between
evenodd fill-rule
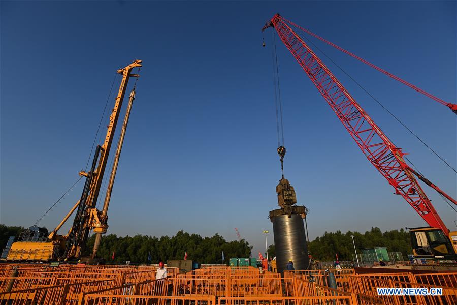
<instances>
[{"instance_id":1,"label":"red lattice boom of the crane, without its cab","mask_svg":"<svg viewBox=\"0 0 457 305\"><path fill-rule=\"evenodd\" d=\"M263 29L274 27L281 41L305 70L325 101L343 123L367 159L418 214L432 227L449 230L403 159L404 153L374 123L365 110L311 48L276 14Z\"/></svg>"}]
</instances>

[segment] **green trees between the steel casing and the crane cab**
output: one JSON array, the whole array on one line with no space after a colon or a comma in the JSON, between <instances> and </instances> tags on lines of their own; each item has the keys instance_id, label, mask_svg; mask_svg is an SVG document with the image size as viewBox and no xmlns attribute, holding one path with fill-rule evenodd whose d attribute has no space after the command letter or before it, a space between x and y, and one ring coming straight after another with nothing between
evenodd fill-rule
<instances>
[{"instance_id":1,"label":"green trees between the steel casing and the crane cab","mask_svg":"<svg viewBox=\"0 0 457 305\"><path fill-rule=\"evenodd\" d=\"M308 244L308 251L314 259L330 261L338 259L352 261L354 246L351 235L354 235L355 248L357 253L361 253L364 248L386 247L388 252L401 252L406 259L407 254L412 252L409 233L403 229L385 231L384 233L377 227L371 228L364 234L359 232L341 231L335 233L325 232L323 236L317 237ZM270 251L270 250L269 250Z\"/></svg>"}]
</instances>

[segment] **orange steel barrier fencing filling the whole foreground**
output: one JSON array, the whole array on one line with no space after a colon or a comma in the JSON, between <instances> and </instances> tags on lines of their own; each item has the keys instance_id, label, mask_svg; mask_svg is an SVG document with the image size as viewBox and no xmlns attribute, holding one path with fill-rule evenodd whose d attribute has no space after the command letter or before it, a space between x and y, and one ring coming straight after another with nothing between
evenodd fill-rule
<instances>
[{"instance_id":1,"label":"orange steel barrier fencing filling the whole foreground","mask_svg":"<svg viewBox=\"0 0 457 305\"><path fill-rule=\"evenodd\" d=\"M335 272L336 289L324 270L259 272L253 267L215 266L155 280L152 266L0 266L0 305L306 305L457 304L457 272ZM377 288L441 288L441 296L379 296Z\"/></svg>"}]
</instances>

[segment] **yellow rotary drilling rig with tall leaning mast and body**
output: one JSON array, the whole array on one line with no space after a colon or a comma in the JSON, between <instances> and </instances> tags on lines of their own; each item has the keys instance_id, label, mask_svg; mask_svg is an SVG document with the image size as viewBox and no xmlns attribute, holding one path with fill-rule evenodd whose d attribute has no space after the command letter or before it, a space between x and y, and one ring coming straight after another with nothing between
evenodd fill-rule
<instances>
[{"instance_id":1,"label":"yellow rotary drilling rig with tall leaning mast and body","mask_svg":"<svg viewBox=\"0 0 457 305\"><path fill-rule=\"evenodd\" d=\"M119 86L118 94L114 107L110 115L110 122L107 127L105 141L103 145L97 145L92 161L90 171L80 171L79 175L86 178L83 192L80 199L63 218L59 225L47 236L47 239L35 240L30 238L29 234L22 235L21 240L14 242L9 250L8 261L49 261L60 260L67 261L72 259L80 259L87 245L89 232L93 230L95 233L95 243L90 257L83 258L81 261L93 262L96 258L96 253L100 246L102 234L106 233L108 224L108 206L111 198L111 191L114 184L119 156L122 148L125 130L127 128L130 109L135 99L135 87L129 96L129 103L125 113L124 122L122 125L119 142L117 145L116 156L114 158L113 169L111 171L107 194L104 201L102 211L97 209L96 203L100 195L102 180L105 169L108 163L108 156L113 142L114 133L117 126L117 121L122 107L122 101L126 92L128 80L130 77L138 78L138 74L132 74L134 68L140 68L142 60L134 60L134 62L122 69L117 70L117 73L122 75L122 80ZM76 211L72 227L66 235L59 235L57 231ZM43 242L46 241L46 242Z\"/></svg>"}]
</instances>

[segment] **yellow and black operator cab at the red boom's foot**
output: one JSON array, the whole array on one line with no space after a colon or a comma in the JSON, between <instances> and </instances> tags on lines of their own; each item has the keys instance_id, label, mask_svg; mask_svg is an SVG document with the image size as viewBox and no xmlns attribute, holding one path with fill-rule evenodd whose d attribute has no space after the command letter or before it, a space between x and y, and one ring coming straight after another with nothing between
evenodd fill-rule
<instances>
[{"instance_id":1,"label":"yellow and black operator cab at the red boom's foot","mask_svg":"<svg viewBox=\"0 0 457 305\"><path fill-rule=\"evenodd\" d=\"M457 232L446 236L433 227L411 228L409 231L414 258L426 260L457 260Z\"/></svg>"}]
</instances>

